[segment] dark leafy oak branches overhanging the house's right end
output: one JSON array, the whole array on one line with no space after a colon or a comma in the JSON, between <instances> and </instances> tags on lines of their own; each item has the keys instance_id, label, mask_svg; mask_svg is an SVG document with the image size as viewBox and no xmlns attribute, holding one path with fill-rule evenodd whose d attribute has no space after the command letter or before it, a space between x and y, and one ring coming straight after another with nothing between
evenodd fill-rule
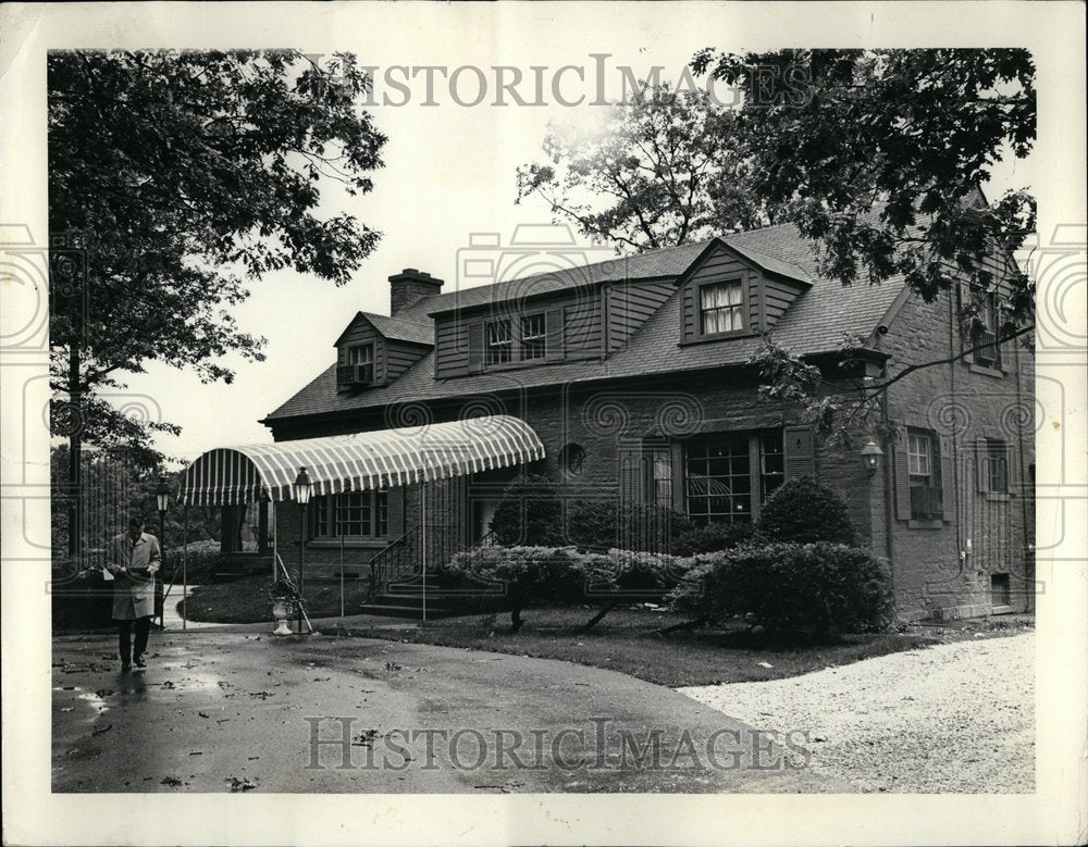
<instances>
[{"instance_id":1,"label":"dark leafy oak branches overhanging the house's right end","mask_svg":"<svg viewBox=\"0 0 1088 847\"><path fill-rule=\"evenodd\" d=\"M691 64L744 92L731 130L752 165L751 190L790 204L829 278L901 274L927 302L956 279L981 294L997 284L984 258L1012 256L1035 228L1026 190L994 202L978 190L997 160L1034 145L1026 50L708 48ZM1014 265L1010 275L1006 335L1030 319L1035 295ZM972 300L963 316L978 308Z\"/></svg>"}]
</instances>

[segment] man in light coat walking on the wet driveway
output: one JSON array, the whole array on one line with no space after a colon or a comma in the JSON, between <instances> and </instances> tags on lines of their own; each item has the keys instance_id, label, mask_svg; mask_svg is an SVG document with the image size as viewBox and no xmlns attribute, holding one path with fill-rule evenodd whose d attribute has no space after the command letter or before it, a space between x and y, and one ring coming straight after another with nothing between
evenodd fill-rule
<instances>
[{"instance_id":1,"label":"man in light coat walking on the wet driveway","mask_svg":"<svg viewBox=\"0 0 1088 847\"><path fill-rule=\"evenodd\" d=\"M106 570L113 574L113 620L118 622L121 672L146 668L144 653L154 614L154 574L162 561L159 539L144 532L144 519L133 516L128 532L110 541ZM129 643L135 623L135 644Z\"/></svg>"}]
</instances>

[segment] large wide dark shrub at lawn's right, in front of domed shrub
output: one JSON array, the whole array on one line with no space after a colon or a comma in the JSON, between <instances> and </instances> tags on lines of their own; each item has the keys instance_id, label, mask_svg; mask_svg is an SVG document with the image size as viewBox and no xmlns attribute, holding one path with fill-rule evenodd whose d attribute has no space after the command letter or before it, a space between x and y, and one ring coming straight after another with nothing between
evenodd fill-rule
<instances>
[{"instance_id":1,"label":"large wide dark shrub at lawn's right, in front of domed shrub","mask_svg":"<svg viewBox=\"0 0 1088 847\"><path fill-rule=\"evenodd\" d=\"M697 556L670 596L705 621L751 615L768 632L826 636L891 622L886 570L866 550L837 544L767 544Z\"/></svg>"}]
</instances>

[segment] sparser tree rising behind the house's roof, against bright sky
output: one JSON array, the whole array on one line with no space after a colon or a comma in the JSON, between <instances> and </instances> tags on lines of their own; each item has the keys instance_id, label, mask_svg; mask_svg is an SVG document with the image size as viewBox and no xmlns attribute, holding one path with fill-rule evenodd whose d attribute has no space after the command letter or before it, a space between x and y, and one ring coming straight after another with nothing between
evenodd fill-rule
<instances>
[{"instance_id":1,"label":"sparser tree rising behind the house's roof, against bright sky","mask_svg":"<svg viewBox=\"0 0 1088 847\"><path fill-rule=\"evenodd\" d=\"M518 202L539 197L556 223L617 251L765 226L782 210L746 188L735 122L706 91L643 85L607 110L599 132L551 124L549 163L518 169Z\"/></svg>"}]
</instances>

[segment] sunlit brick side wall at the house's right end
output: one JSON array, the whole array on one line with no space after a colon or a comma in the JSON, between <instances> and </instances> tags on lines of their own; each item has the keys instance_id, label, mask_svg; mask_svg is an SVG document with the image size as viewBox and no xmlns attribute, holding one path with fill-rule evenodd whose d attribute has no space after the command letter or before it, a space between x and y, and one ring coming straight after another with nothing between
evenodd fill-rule
<instances>
[{"instance_id":1,"label":"sunlit brick side wall at the house's right end","mask_svg":"<svg viewBox=\"0 0 1088 847\"><path fill-rule=\"evenodd\" d=\"M880 339L881 349L892 357L889 374L962 352L965 348L954 311L949 295L931 304L908 300ZM1025 549L1034 513L1034 491L1027 478L1028 465L1035 461L1031 358L1021 341L1007 341L1002 345L1003 370L979 369L968 358L916 371L889 389L891 422L942 437L952 450L955 474L949 520L904 521L894 518L894 508L890 510L901 618L988 614L996 573L1010 575L1011 606L1017 611L1029 607ZM1010 491L1005 496L978 490L979 438L999 438L1009 445ZM903 441L895 447L902 449ZM893 461L886 462L886 471L893 473ZM894 486L889 488L894 498Z\"/></svg>"}]
</instances>

